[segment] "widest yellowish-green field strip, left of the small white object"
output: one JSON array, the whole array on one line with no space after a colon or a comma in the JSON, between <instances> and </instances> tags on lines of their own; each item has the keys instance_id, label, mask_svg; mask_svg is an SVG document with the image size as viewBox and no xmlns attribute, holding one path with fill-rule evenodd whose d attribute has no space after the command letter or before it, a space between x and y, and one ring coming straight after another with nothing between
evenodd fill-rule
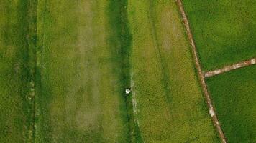
<instances>
[{"instance_id":1,"label":"widest yellowish-green field strip, left of the small white object","mask_svg":"<svg viewBox=\"0 0 256 143\"><path fill-rule=\"evenodd\" d=\"M111 4L39 1L36 142L129 142Z\"/></svg>"}]
</instances>

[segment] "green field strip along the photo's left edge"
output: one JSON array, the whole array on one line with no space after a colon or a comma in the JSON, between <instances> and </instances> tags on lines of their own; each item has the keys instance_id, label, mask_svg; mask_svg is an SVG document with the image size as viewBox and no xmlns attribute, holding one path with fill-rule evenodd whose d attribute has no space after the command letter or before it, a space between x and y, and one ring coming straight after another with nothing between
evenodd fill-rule
<instances>
[{"instance_id":1,"label":"green field strip along the photo's left edge","mask_svg":"<svg viewBox=\"0 0 256 143\"><path fill-rule=\"evenodd\" d=\"M0 1L0 142L29 142L29 1Z\"/></svg>"}]
</instances>

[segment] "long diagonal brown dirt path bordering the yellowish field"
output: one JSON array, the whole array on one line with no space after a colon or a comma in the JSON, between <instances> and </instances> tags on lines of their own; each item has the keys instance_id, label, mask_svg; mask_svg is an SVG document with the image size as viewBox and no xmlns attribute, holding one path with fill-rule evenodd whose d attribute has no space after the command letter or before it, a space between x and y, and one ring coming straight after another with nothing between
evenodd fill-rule
<instances>
[{"instance_id":1,"label":"long diagonal brown dirt path bordering the yellowish field","mask_svg":"<svg viewBox=\"0 0 256 143\"><path fill-rule=\"evenodd\" d=\"M190 29L190 26L188 24L188 18L186 16L185 11L184 11L182 1L181 0L175 0L175 1L176 1L176 4L178 5L178 9L180 10L180 14L182 15L183 24L185 25L186 33L188 34L188 39L189 39L190 44L192 46L193 60L196 64L196 69L198 71L198 77L200 79L201 86L203 87L204 97L206 99L207 106L209 108L209 114L211 115L211 119L214 122L214 126L216 127L216 130L219 134L221 142L227 143L227 139L224 136L224 132L221 129L221 126L219 124L219 119L217 118L217 116L215 114L215 109L212 105L211 97L210 97L209 92L207 90L206 82L205 82L205 79L204 79L204 74L203 74L203 71L201 69L201 65L199 63L199 59L198 59L198 55L197 55L197 51L196 51L196 45L193 41L193 35L191 33L191 29Z\"/></svg>"}]
</instances>

